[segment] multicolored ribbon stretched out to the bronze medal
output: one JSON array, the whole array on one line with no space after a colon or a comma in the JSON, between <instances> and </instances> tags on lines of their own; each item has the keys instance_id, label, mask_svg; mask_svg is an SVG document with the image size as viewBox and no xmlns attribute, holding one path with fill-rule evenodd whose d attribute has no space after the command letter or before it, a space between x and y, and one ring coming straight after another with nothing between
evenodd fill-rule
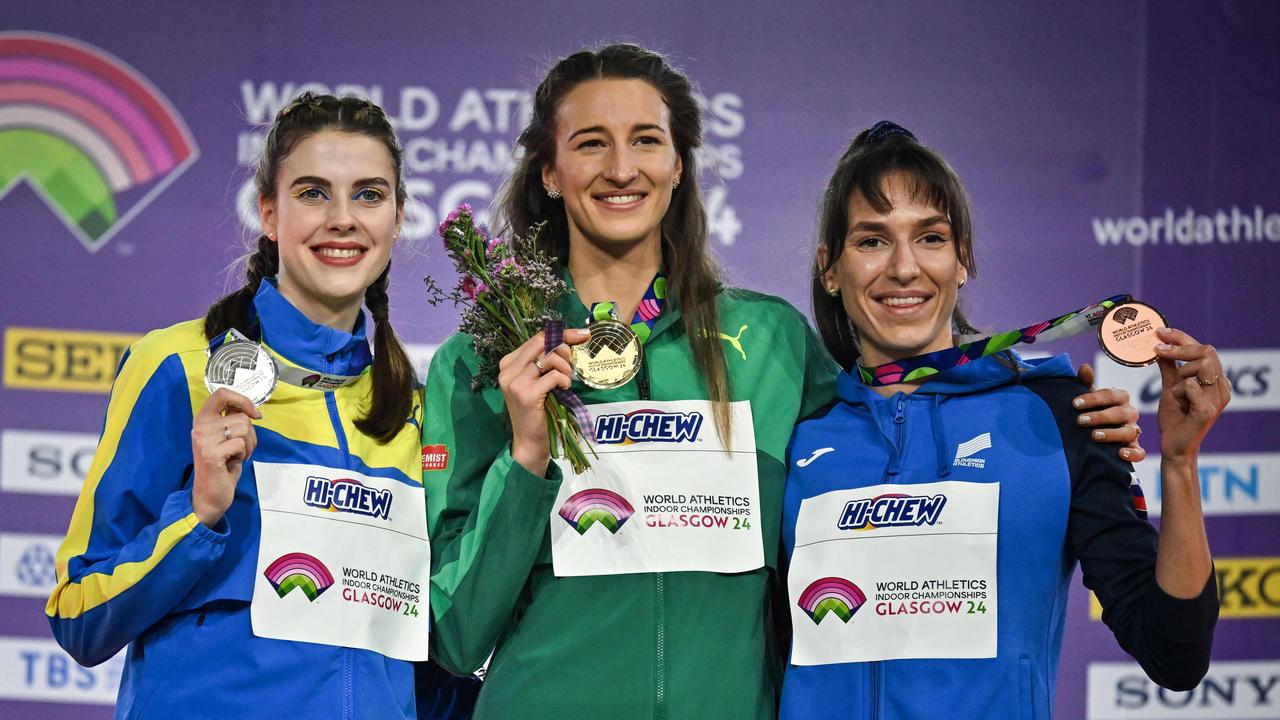
<instances>
[{"instance_id":1,"label":"multicolored ribbon stretched out to the bronze medal","mask_svg":"<svg viewBox=\"0 0 1280 720\"><path fill-rule=\"evenodd\" d=\"M1009 350L1020 342L1046 342L1080 334L1089 328L1097 327L1108 310L1130 300L1133 297L1129 295L1112 295L1088 307L1082 307L1074 313L1068 313L1052 320L1036 323L1034 325L1027 325L1016 331L997 333L991 337L960 336L956 338L954 347L895 360L883 365L876 365L874 368L858 365L858 375L861 378L863 384L872 387L919 380L943 370L965 365L979 357Z\"/></svg>"}]
</instances>

